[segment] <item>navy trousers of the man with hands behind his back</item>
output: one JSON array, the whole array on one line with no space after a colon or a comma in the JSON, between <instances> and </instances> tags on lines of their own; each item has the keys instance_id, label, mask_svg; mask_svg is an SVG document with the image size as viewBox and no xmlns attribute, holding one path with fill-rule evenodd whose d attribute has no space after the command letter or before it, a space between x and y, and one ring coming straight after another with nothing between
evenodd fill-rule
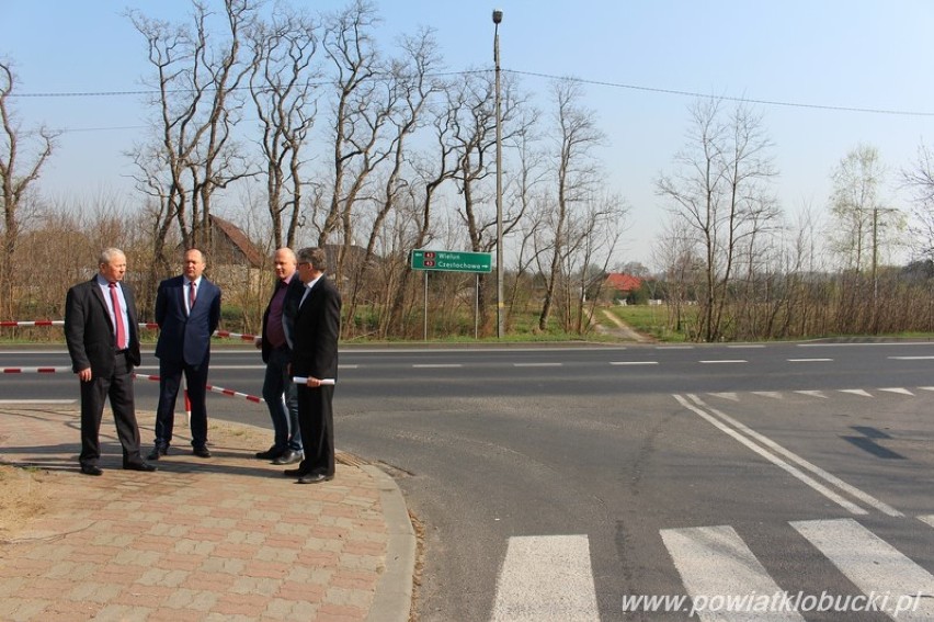
<instances>
[{"instance_id":1,"label":"navy trousers of the man with hands behind his back","mask_svg":"<svg viewBox=\"0 0 934 622\"><path fill-rule=\"evenodd\" d=\"M200 365L189 365L184 362L167 362L159 360L159 404L156 406L156 444L168 446L172 442L172 429L175 425L175 399L182 374L189 389L189 400L192 405L192 446L203 448L207 444L207 364L205 357Z\"/></svg>"}]
</instances>

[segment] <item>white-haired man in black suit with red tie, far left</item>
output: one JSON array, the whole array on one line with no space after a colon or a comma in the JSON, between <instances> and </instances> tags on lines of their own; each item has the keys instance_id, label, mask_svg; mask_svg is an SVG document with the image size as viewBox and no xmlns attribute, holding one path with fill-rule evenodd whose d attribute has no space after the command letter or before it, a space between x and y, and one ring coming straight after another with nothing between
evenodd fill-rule
<instances>
[{"instance_id":1,"label":"white-haired man in black suit with red tie, far left","mask_svg":"<svg viewBox=\"0 0 934 622\"><path fill-rule=\"evenodd\" d=\"M65 340L71 369L81 382L81 473L101 475L101 418L110 397L123 467L156 471L139 455L139 426L133 396L133 367L139 365L136 301L121 284L126 256L116 248L101 252L98 274L79 283L65 298Z\"/></svg>"}]
</instances>

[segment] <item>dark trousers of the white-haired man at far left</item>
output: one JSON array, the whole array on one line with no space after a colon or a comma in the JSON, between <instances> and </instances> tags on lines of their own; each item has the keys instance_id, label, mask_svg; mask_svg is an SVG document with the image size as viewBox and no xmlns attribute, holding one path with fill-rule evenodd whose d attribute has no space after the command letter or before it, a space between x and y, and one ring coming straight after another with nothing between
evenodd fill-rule
<instances>
[{"instance_id":1,"label":"dark trousers of the white-haired man at far left","mask_svg":"<svg viewBox=\"0 0 934 622\"><path fill-rule=\"evenodd\" d=\"M111 400L117 438L123 448L124 465L143 462L139 455L139 426L133 398L133 372L125 353L116 353L114 373L110 377L92 377L81 383L81 454L82 465L96 465L101 459L101 419L104 402Z\"/></svg>"}]
</instances>

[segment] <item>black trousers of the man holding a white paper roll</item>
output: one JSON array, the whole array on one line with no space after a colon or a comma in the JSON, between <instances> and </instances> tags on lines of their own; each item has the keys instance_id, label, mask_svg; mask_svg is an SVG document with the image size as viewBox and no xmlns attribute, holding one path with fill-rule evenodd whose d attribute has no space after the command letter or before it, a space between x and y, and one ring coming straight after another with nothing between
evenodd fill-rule
<instances>
[{"instance_id":1,"label":"black trousers of the man holding a white paper roll","mask_svg":"<svg viewBox=\"0 0 934 622\"><path fill-rule=\"evenodd\" d=\"M305 460L298 465L301 473L334 474L334 414L331 399L333 385L310 388L299 384L298 427L301 429L301 444Z\"/></svg>"}]
</instances>

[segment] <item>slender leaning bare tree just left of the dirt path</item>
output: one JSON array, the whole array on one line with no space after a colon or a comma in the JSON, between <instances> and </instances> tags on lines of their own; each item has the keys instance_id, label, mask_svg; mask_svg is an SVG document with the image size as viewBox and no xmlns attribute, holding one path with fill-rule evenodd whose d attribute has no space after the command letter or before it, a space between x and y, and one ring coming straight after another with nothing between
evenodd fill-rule
<instances>
[{"instance_id":1,"label":"slender leaning bare tree just left of the dirt path","mask_svg":"<svg viewBox=\"0 0 934 622\"><path fill-rule=\"evenodd\" d=\"M548 327L558 283L567 276L561 269L569 248L569 218L576 207L591 195L597 179L593 150L604 140L604 134L596 127L593 112L580 105L582 97L580 84L572 80L558 81L553 86L556 192L555 210L548 220L549 265L543 272L545 299L538 316L539 330Z\"/></svg>"}]
</instances>

